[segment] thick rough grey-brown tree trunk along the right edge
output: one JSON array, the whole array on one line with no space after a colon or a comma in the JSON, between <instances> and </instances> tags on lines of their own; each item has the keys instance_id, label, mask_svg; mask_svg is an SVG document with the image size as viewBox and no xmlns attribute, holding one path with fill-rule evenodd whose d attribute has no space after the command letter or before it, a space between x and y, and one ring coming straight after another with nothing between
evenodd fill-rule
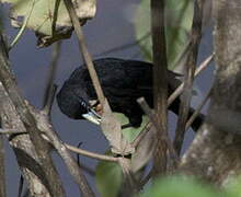
<instances>
[{"instance_id":1,"label":"thick rough grey-brown tree trunk along the right edge","mask_svg":"<svg viewBox=\"0 0 241 197\"><path fill-rule=\"evenodd\" d=\"M180 170L217 185L241 174L241 1L213 0L216 79L208 117Z\"/></svg>"}]
</instances>

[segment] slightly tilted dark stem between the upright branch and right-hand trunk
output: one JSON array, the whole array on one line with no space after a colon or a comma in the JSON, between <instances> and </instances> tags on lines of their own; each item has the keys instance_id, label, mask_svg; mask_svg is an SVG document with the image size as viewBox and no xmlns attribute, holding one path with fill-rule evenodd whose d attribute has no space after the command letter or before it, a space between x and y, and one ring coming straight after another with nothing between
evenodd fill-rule
<instances>
[{"instance_id":1,"label":"slightly tilted dark stem between the upright branch and right-hand trunk","mask_svg":"<svg viewBox=\"0 0 241 197\"><path fill-rule=\"evenodd\" d=\"M179 109L179 119L175 130L174 138L174 148L177 154L181 153L184 135L185 135L185 125L190 113L190 103L192 99L192 86L194 81L195 67L198 55L198 46L202 38L202 13L203 8L199 8L197 1L194 2L194 19L192 26L192 40L191 40L191 53L187 57L187 65L184 76L184 92L183 99L181 100L180 109Z\"/></svg>"}]
</instances>

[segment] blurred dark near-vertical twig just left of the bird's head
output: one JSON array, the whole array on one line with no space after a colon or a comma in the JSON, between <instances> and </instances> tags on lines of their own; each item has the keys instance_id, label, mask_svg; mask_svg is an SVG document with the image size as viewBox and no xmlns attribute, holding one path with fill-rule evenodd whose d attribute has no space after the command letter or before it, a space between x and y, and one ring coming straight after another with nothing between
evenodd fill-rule
<instances>
[{"instance_id":1,"label":"blurred dark near-vertical twig just left of the bird's head","mask_svg":"<svg viewBox=\"0 0 241 197\"><path fill-rule=\"evenodd\" d=\"M54 88L54 81L55 81L55 76L56 76L56 71L57 71L57 66L58 66L58 59L60 56L60 48L61 48L61 42L57 42L56 44L54 44L53 46L53 53L51 53L51 61L49 65L49 76L47 79L47 85L46 85L46 90L44 93L44 99L43 99L43 111L45 111L47 114L49 114L50 112L50 100L51 100L51 94L54 92L53 88Z\"/></svg>"}]
</instances>

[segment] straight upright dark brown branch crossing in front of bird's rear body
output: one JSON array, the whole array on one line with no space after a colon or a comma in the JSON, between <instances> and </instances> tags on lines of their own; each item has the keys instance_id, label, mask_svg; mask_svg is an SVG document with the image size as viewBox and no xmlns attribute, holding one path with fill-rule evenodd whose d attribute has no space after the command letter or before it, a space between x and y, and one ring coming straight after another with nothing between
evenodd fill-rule
<instances>
[{"instance_id":1,"label":"straight upright dark brown branch crossing in front of bird's rear body","mask_svg":"<svg viewBox=\"0 0 241 197\"><path fill-rule=\"evenodd\" d=\"M164 35L164 0L151 0L151 32L153 51L153 102L157 116L156 174L167 171L168 138L168 62Z\"/></svg>"}]
</instances>

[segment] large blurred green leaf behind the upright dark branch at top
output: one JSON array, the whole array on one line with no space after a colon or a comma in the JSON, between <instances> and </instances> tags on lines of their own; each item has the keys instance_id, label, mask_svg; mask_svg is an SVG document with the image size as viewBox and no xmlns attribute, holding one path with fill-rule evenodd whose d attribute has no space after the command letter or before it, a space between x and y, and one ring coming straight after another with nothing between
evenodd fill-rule
<instances>
[{"instance_id":1,"label":"large blurred green leaf behind the upright dark branch at top","mask_svg":"<svg viewBox=\"0 0 241 197\"><path fill-rule=\"evenodd\" d=\"M188 43L193 21L193 0L165 1L165 42L169 69L174 69ZM141 0L136 12L136 38L150 33L150 1ZM151 37L139 43L145 58L152 61Z\"/></svg>"}]
</instances>

